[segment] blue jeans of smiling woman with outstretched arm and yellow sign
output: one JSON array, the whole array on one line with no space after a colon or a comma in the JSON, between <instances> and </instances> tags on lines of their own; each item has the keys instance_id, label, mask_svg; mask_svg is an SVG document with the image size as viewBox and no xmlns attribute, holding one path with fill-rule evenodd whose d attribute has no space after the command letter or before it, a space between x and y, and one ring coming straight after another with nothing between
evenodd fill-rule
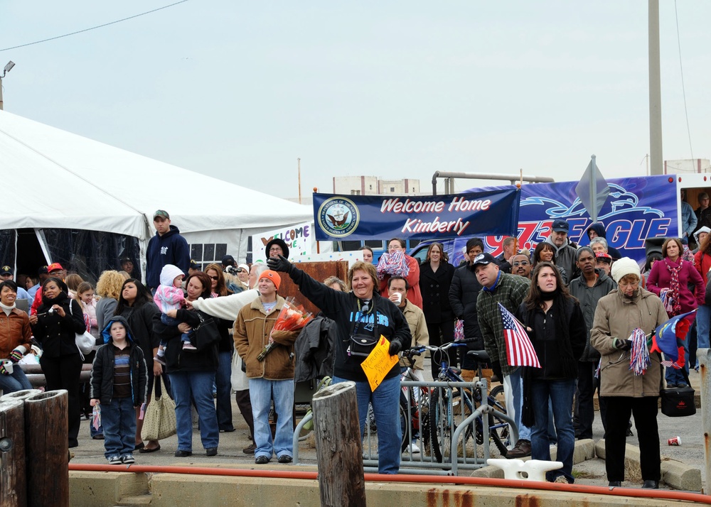
<instances>
[{"instance_id":1,"label":"blue jeans of smiling woman with outstretched arm and yellow sign","mask_svg":"<svg viewBox=\"0 0 711 507\"><path fill-rule=\"evenodd\" d=\"M252 381L250 380L250 383ZM348 378L333 377L333 383L348 382ZM400 469L400 377L385 378L375 391L368 382L355 382L358 398L360 439L365 432L368 403L373 405L375 425L378 426L378 474L397 474Z\"/></svg>"}]
</instances>

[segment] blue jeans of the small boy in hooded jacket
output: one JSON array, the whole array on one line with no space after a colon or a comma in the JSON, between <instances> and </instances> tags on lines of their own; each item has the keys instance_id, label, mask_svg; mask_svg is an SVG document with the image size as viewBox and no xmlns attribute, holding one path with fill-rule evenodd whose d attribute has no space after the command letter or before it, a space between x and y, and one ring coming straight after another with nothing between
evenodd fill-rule
<instances>
[{"instance_id":1,"label":"blue jeans of the small boy in hooded jacket","mask_svg":"<svg viewBox=\"0 0 711 507\"><path fill-rule=\"evenodd\" d=\"M104 456L133 454L136 447L136 410L131 396L100 403L99 408L104 428Z\"/></svg>"}]
</instances>

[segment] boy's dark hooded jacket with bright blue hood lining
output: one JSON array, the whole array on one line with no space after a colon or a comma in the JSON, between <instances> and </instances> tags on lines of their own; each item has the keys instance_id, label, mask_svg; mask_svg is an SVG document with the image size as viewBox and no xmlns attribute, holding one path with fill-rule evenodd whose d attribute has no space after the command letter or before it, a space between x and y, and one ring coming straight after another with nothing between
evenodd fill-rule
<instances>
[{"instance_id":1,"label":"boy's dark hooded jacket with bright blue hood lining","mask_svg":"<svg viewBox=\"0 0 711 507\"><path fill-rule=\"evenodd\" d=\"M94 366L91 369L91 394L92 398L97 398L101 403L110 403L114 394L114 361L116 353L111 340L109 329L113 322L121 322L127 331L127 342L131 349L129 354L129 365L131 367L131 398L134 407L138 407L146 400L146 388L148 385L148 375L146 373L146 361L141 347L135 342L131 333L131 327L124 317L114 315L102 330L104 345L96 351Z\"/></svg>"}]
</instances>

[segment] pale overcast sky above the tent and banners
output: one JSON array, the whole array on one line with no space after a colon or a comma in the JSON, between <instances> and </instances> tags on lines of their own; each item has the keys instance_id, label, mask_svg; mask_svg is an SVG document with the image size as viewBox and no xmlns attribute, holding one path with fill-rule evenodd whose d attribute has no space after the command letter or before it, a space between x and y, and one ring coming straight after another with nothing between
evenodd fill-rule
<instances>
[{"instance_id":1,"label":"pale overcast sky above the tent and banners","mask_svg":"<svg viewBox=\"0 0 711 507\"><path fill-rule=\"evenodd\" d=\"M170 3L4 0L0 49ZM678 1L691 146L660 3L664 158L710 158L711 1ZM0 66L6 111L278 197L296 158L305 200L336 175L577 180L592 153L613 178L646 170L647 19L642 0L190 0Z\"/></svg>"}]
</instances>

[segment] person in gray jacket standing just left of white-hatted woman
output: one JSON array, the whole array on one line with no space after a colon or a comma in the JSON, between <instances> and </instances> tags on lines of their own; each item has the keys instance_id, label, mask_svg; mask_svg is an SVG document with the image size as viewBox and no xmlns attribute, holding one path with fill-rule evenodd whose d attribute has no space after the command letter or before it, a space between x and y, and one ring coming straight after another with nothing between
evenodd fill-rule
<instances>
[{"instance_id":1,"label":"person in gray jacket standing just left of white-hatted woman","mask_svg":"<svg viewBox=\"0 0 711 507\"><path fill-rule=\"evenodd\" d=\"M595 318L597 302L611 290L616 289L617 284L603 270L595 268L595 256L589 246L578 249L576 264L581 274L570 282L568 290L579 300L587 328L585 349L578 361L577 403L575 404L577 415L575 436L582 440L592 438L592 421L595 415L593 395L595 388L599 388L599 381L595 379L595 370L600 361L600 353L590 344L590 329ZM606 407L603 399L599 398L599 400L600 416L604 427Z\"/></svg>"}]
</instances>

